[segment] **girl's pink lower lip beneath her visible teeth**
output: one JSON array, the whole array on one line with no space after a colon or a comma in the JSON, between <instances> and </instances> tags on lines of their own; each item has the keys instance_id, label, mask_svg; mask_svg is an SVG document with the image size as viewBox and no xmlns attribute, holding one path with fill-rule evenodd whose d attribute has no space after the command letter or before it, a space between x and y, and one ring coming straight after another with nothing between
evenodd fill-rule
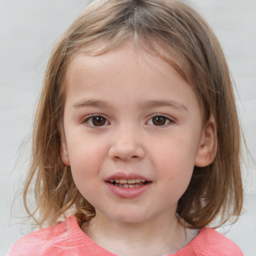
<instances>
[{"instance_id":1,"label":"girl's pink lower lip beneath her visible teeth","mask_svg":"<svg viewBox=\"0 0 256 256\"><path fill-rule=\"evenodd\" d=\"M145 185L137 187L120 187L113 185L112 183L106 182L106 185L109 187L110 191L121 198L135 198L147 190L152 182L148 182Z\"/></svg>"}]
</instances>

